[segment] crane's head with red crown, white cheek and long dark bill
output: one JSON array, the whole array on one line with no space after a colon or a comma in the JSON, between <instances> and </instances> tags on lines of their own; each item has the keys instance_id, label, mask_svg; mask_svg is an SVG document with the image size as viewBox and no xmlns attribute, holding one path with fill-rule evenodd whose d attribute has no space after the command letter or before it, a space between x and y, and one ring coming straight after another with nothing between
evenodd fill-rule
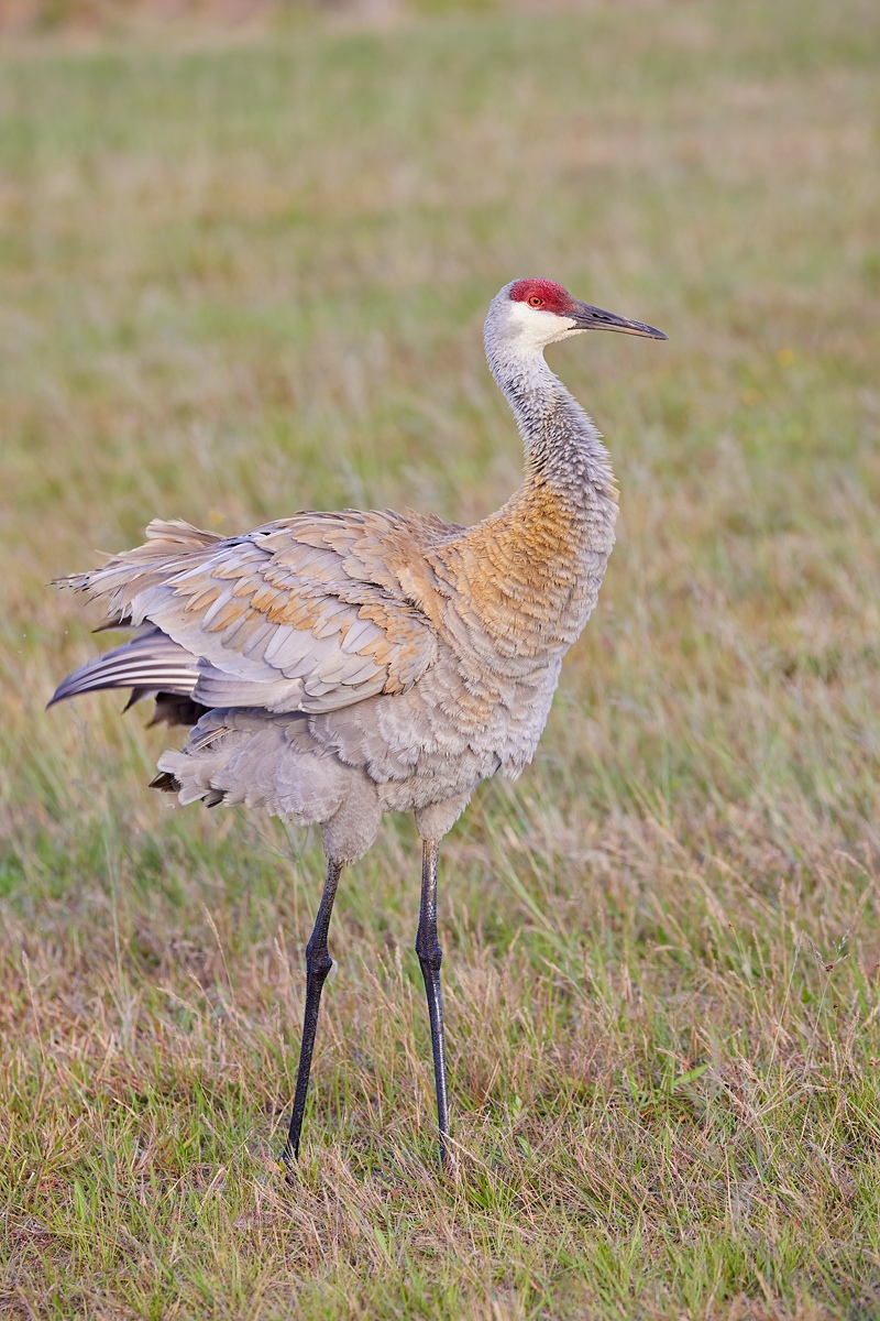
<instances>
[{"instance_id":1,"label":"crane's head with red crown, white cheek and long dark bill","mask_svg":"<svg viewBox=\"0 0 880 1321\"><path fill-rule=\"evenodd\" d=\"M588 303L579 303L553 280L513 280L496 293L486 318L486 339L517 347L544 349L548 343L567 339L582 330L616 330L646 339L665 339L662 330L628 321L613 312L603 312Z\"/></svg>"}]
</instances>

